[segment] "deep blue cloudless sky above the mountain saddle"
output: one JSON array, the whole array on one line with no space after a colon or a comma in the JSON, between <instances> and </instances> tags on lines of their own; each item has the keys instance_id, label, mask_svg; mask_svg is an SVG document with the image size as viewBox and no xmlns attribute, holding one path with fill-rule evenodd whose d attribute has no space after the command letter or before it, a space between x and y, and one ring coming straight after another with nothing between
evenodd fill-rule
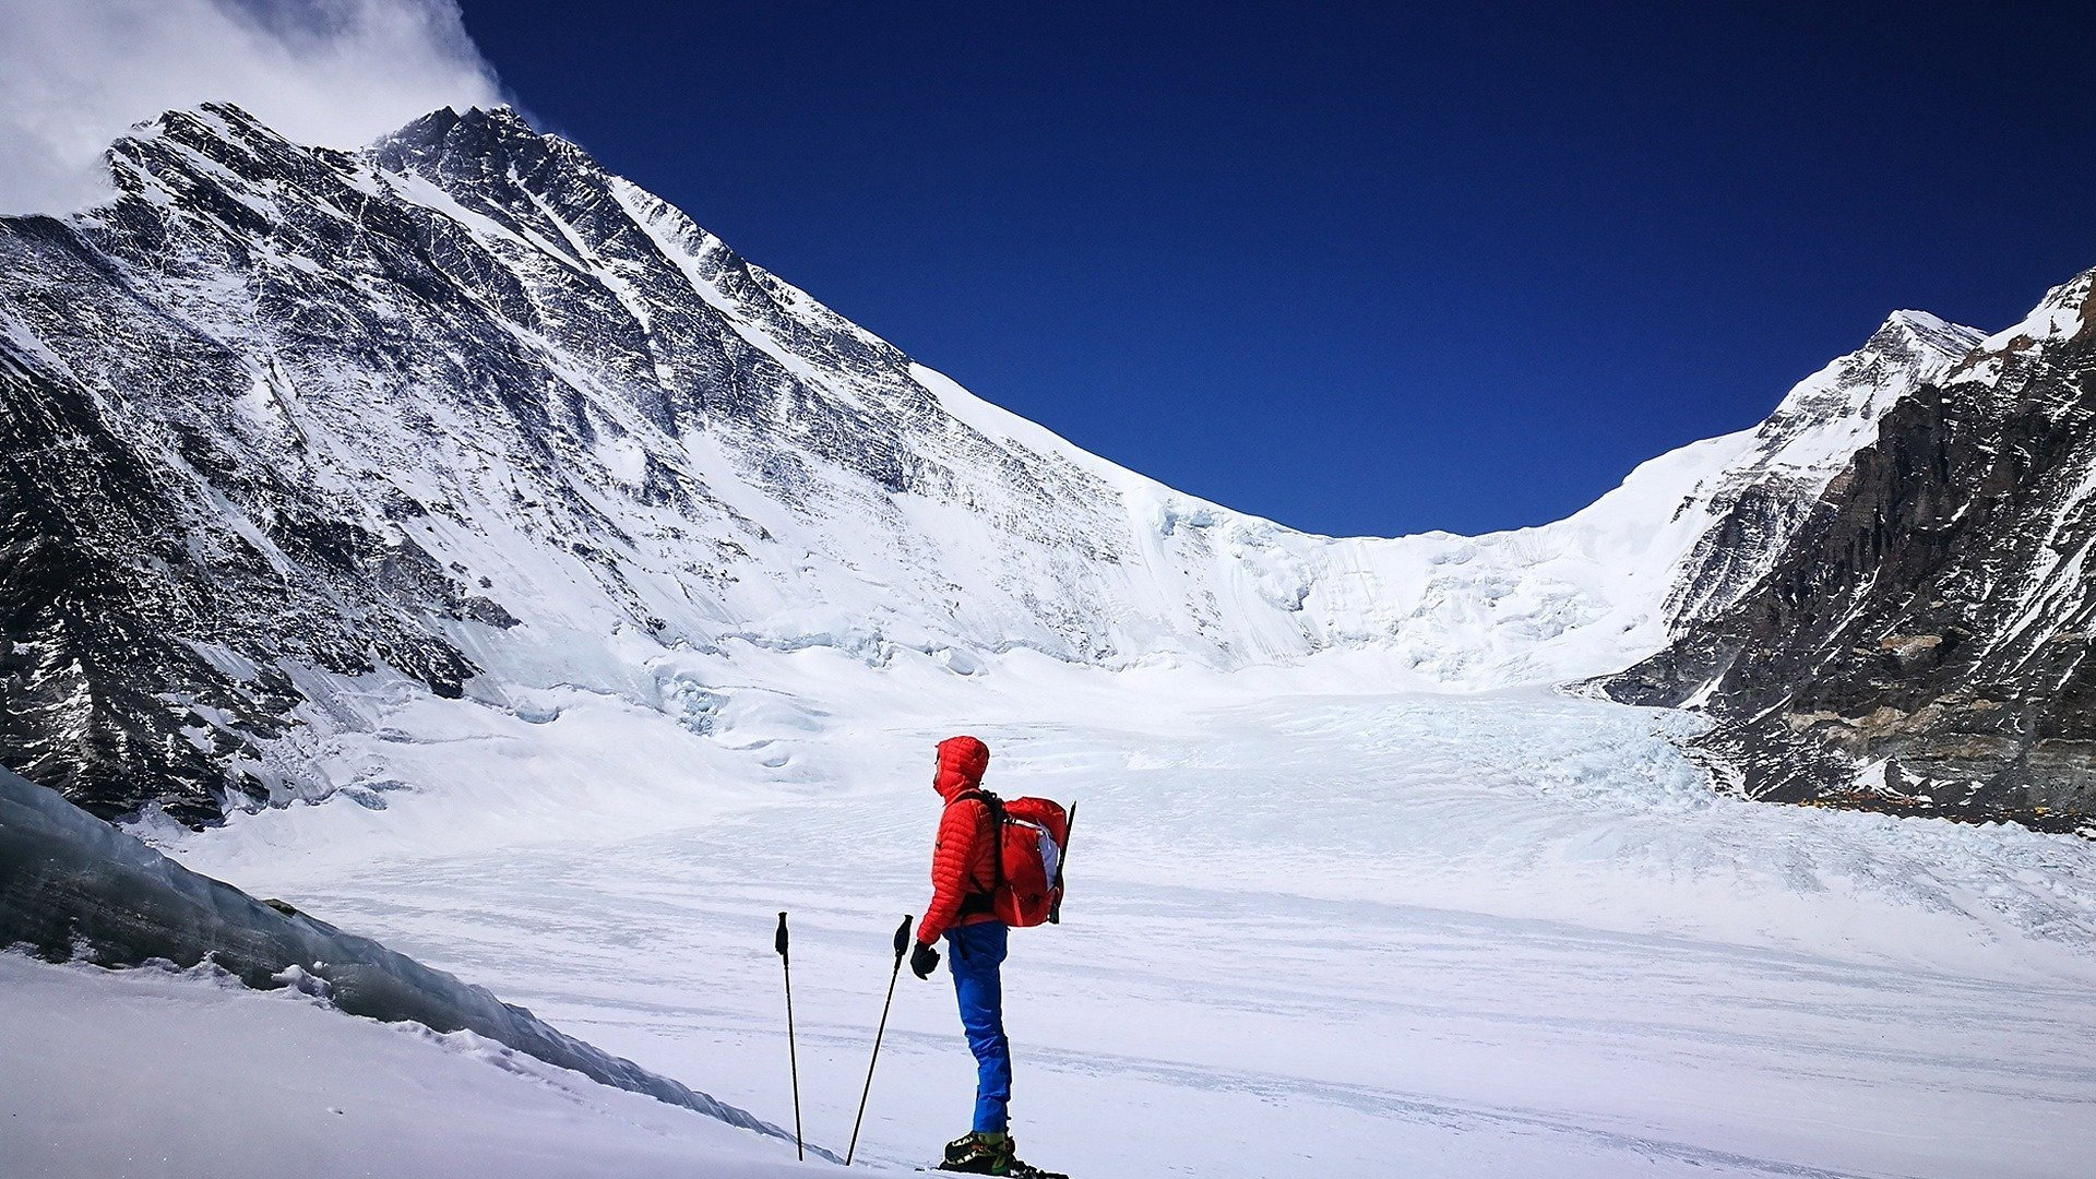
<instances>
[{"instance_id":1,"label":"deep blue cloudless sky above the mountain saddle","mask_svg":"<svg viewBox=\"0 0 2096 1179\"><path fill-rule=\"evenodd\" d=\"M1564 516L1893 308L1995 329L2096 264L2071 8L1404 8L465 19L541 126L755 262L1323 533Z\"/></svg>"}]
</instances>

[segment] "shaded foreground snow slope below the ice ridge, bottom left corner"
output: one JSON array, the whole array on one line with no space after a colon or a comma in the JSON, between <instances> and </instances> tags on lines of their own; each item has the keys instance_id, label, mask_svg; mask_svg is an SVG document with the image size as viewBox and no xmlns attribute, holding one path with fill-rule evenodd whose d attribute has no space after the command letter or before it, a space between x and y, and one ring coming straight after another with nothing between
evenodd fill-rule
<instances>
[{"instance_id":1,"label":"shaded foreground snow slope below the ice ridge, bottom left corner","mask_svg":"<svg viewBox=\"0 0 2096 1179\"><path fill-rule=\"evenodd\" d=\"M210 967L0 952L0 1158L15 1179L834 1173L472 1032L344 1017Z\"/></svg>"}]
</instances>

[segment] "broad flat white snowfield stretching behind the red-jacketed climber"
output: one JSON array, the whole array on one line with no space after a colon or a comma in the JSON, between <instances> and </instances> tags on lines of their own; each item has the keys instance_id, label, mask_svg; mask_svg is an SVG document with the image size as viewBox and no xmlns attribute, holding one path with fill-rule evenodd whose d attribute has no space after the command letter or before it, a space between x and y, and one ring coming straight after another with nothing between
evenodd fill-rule
<instances>
[{"instance_id":1,"label":"broad flat white snowfield stretching behind the red-jacketed climber","mask_svg":"<svg viewBox=\"0 0 2096 1179\"><path fill-rule=\"evenodd\" d=\"M725 810L643 822L612 799L660 783L599 780L610 818L526 843L409 791L390 820L268 812L180 852L771 1118L788 908L803 1106L834 1148L926 892L931 738L968 728L994 789L1084 803L1069 921L1014 934L1006 976L1042 1164L2065 1179L2096 1148L2086 843L1723 799L1666 743L1694 720L1536 690L1014 665L782 692L706 738L750 759ZM587 707L534 732L574 741ZM897 988L861 1160L964 1127L933 982Z\"/></svg>"}]
</instances>

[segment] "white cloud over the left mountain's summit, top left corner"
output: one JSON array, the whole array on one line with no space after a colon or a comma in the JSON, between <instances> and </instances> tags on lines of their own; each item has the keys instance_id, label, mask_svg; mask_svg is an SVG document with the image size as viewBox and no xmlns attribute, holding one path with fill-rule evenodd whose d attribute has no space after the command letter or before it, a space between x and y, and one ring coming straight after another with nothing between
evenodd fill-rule
<instances>
[{"instance_id":1,"label":"white cloud over the left mountain's summit, top left corner","mask_svg":"<svg viewBox=\"0 0 2096 1179\"><path fill-rule=\"evenodd\" d=\"M455 0L0 0L0 212L103 197L113 138L208 101L358 147L503 92Z\"/></svg>"}]
</instances>

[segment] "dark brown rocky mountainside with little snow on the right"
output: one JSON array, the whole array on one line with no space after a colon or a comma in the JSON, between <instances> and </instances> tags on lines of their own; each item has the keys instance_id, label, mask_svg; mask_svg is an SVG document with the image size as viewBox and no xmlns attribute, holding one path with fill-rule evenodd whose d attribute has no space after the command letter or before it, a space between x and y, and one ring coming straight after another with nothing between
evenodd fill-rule
<instances>
[{"instance_id":1,"label":"dark brown rocky mountainside with little snow on the right","mask_svg":"<svg viewBox=\"0 0 2096 1179\"><path fill-rule=\"evenodd\" d=\"M1895 405L1759 585L1608 682L1750 795L2096 818L2092 275Z\"/></svg>"}]
</instances>

